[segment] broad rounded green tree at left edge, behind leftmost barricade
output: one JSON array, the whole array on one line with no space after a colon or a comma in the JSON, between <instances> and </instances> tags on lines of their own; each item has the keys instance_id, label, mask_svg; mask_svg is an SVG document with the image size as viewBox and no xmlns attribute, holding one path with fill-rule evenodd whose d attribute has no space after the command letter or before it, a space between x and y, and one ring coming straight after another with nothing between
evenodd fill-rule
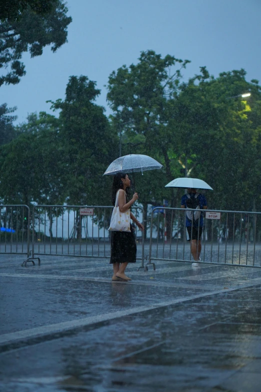
<instances>
[{"instance_id":1,"label":"broad rounded green tree at left edge, behind leftmost barricade","mask_svg":"<svg viewBox=\"0 0 261 392\"><path fill-rule=\"evenodd\" d=\"M28 116L18 136L0 147L0 198L5 204L59 204L59 129L54 116Z\"/></svg>"}]
</instances>

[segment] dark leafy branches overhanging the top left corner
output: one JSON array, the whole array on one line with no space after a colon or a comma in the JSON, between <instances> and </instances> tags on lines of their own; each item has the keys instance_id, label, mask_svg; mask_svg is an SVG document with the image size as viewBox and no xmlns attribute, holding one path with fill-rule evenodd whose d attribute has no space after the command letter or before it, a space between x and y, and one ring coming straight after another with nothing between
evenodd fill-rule
<instances>
[{"instance_id":1,"label":"dark leafy branches overhanging the top left corner","mask_svg":"<svg viewBox=\"0 0 261 392\"><path fill-rule=\"evenodd\" d=\"M17 84L25 75L24 64L20 61L24 52L29 51L31 57L40 56L45 46L52 45L52 52L56 52L66 42L71 18L66 15L68 10L63 1L53 0L47 13L35 12L35 7L44 9L43 3L34 2L31 8L30 4L25 7L25 3L23 6L23 2L19 2L19 17L1 20L0 68L8 67L8 71L0 76L0 86L4 83ZM15 5L13 7L15 10Z\"/></svg>"}]
</instances>

